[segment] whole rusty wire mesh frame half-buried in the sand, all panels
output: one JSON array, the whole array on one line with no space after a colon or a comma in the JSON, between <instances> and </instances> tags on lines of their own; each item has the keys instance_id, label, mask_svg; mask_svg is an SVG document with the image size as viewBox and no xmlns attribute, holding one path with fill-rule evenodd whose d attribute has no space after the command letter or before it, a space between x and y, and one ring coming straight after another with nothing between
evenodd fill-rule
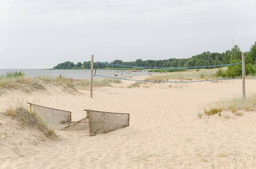
<instances>
[{"instance_id":1,"label":"whole rusty wire mesh frame half-buried in the sand, all panels","mask_svg":"<svg viewBox=\"0 0 256 169\"><path fill-rule=\"evenodd\" d=\"M120 128L128 127L130 115L126 113L110 113L95 110L85 110L86 117L71 121L71 112L39 106L32 103L34 111L49 127L59 130L89 130L89 135L107 133Z\"/></svg>"}]
</instances>

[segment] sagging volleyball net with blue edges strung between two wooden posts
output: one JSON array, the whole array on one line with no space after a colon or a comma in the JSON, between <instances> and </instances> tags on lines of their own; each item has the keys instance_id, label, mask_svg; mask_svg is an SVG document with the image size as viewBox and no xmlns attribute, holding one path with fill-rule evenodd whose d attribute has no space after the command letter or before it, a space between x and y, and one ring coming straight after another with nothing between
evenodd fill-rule
<instances>
[{"instance_id":1,"label":"sagging volleyball net with blue edges strung between two wooden posts","mask_svg":"<svg viewBox=\"0 0 256 169\"><path fill-rule=\"evenodd\" d=\"M216 76L218 69L212 68L238 66L239 64L242 63L187 67L152 67L95 62L94 77L157 83L192 83L231 80L240 79L241 77L219 77ZM107 70L100 69L100 67L103 67L102 65L107 65L110 68Z\"/></svg>"}]
</instances>

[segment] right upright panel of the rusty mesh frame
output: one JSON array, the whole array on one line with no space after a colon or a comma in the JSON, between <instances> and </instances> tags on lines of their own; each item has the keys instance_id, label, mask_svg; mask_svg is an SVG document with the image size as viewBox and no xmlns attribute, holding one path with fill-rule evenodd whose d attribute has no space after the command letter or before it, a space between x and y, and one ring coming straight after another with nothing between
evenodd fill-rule
<instances>
[{"instance_id":1,"label":"right upright panel of the rusty mesh frame","mask_svg":"<svg viewBox=\"0 0 256 169\"><path fill-rule=\"evenodd\" d=\"M129 126L130 114L86 110L89 116L90 136Z\"/></svg>"}]
</instances>

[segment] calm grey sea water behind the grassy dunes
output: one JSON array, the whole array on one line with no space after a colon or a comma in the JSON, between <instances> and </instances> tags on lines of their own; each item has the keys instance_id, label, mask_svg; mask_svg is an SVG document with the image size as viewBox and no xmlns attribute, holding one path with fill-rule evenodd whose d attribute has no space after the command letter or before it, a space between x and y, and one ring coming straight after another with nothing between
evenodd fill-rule
<instances>
[{"instance_id":1,"label":"calm grey sea water behind the grassy dunes","mask_svg":"<svg viewBox=\"0 0 256 169\"><path fill-rule=\"evenodd\" d=\"M72 79L89 79L91 77L90 70L48 70L48 69L0 69L0 75L7 72L13 71L22 71L25 73L26 77L37 77L37 76L53 76L57 77L60 74L67 78ZM149 73L147 71L140 72L130 72L130 71L121 71L121 70L97 70L96 75L110 76L113 77L114 74L117 74L118 78L129 77L129 76L145 76ZM156 74L156 73L151 73ZM94 77L100 78L100 77Z\"/></svg>"}]
</instances>

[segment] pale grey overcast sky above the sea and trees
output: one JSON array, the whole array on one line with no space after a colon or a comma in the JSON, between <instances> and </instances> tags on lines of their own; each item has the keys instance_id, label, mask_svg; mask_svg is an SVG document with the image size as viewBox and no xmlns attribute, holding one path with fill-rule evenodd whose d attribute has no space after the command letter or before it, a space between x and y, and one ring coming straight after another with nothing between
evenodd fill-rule
<instances>
[{"instance_id":1,"label":"pale grey overcast sky above the sea and trees","mask_svg":"<svg viewBox=\"0 0 256 169\"><path fill-rule=\"evenodd\" d=\"M0 68L188 58L256 41L256 0L0 0Z\"/></svg>"}]
</instances>

